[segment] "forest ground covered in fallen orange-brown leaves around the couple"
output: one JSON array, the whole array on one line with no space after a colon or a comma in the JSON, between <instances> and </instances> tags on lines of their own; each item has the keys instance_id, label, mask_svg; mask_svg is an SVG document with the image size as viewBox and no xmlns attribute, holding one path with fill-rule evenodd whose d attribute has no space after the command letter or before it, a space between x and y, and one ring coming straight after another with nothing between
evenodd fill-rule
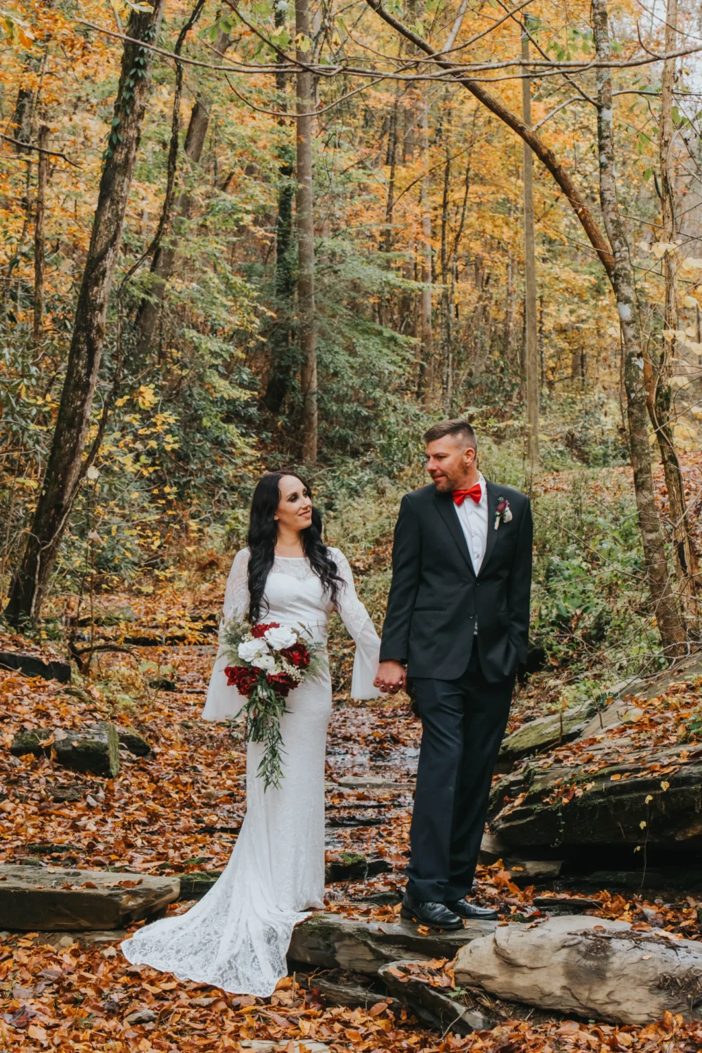
<instances>
[{"instance_id":1,"label":"forest ground covered in fallen orange-brown leaves around the couple","mask_svg":"<svg viewBox=\"0 0 702 1053\"><path fill-rule=\"evenodd\" d=\"M695 470L699 469L696 462ZM558 486L558 478L551 481ZM362 579L386 560L387 539L355 561ZM0 862L172 874L221 870L236 842L245 808L245 756L236 723L201 720L214 645L207 619L221 603L225 561L212 556L198 573L164 584L152 595L136 589L95 597L92 619L75 643L109 642L122 650L97 651L91 677L74 683L27 678L0 670ZM363 590L361 590L363 592ZM102 625L98 625L102 622ZM171 645L141 645L127 639L183 634ZM328 911L348 917L393 920L408 856L412 780L420 724L406 699L352 702L344 692L353 655L338 628L333 634L338 688L327 753L327 859L341 852L382 859L383 873L363 881L327 885ZM0 634L0 650L46 654L51 644ZM164 681L175 690L163 690ZM654 700L647 735L677 740L690 714L697 720L700 693L673 704ZM660 703L660 704L659 704ZM684 704L683 704L684 703ZM535 677L514 707L510 727L553 709L548 674ZM21 729L65 728L99 719L132 724L153 748L149 757L122 760L114 779L69 772L46 758L13 757L8 747ZM649 719L650 718L650 719ZM700 721L702 724L702 721ZM568 748L564 747L563 750ZM578 758L574 756L574 762ZM374 776L392 786L352 789L345 776ZM72 788L78 799L61 789ZM588 896L601 917L647 925L671 938L702 939L702 897L675 895L649 901L642 894L607 889ZM534 890L522 888L501 863L481 867L479 902L519 923L533 916ZM178 902L169 911L181 912ZM232 996L196 982L182 982L146 967L132 967L118 940L84 946L46 934L0 933L0 1049L88 1051L239 1049L241 1042L324 1042L333 1050L485 1050L551 1053L577 1049L691 1053L702 1048L702 1026L685 1027L667 1014L656 1026L614 1027L597 1021L516 1019L467 1037L440 1035L389 1002L369 1010L332 1007L316 990L317 973L283 980L269 999ZM141 1010L146 1022L128 1019ZM246 1047L243 1047L246 1048ZM250 1046L248 1048L252 1048Z\"/></svg>"}]
</instances>

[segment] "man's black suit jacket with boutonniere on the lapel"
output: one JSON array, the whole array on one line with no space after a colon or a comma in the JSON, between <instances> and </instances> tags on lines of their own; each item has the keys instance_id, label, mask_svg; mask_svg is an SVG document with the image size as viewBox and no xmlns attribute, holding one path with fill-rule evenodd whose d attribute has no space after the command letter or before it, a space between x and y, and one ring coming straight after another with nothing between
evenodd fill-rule
<instances>
[{"instance_id":1,"label":"man's black suit jacket with boutonniere on the lapel","mask_svg":"<svg viewBox=\"0 0 702 1053\"><path fill-rule=\"evenodd\" d=\"M512 520L495 530L501 497L509 502ZM410 678L455 680L477 640L487 680L514 676L526 661L531 540L528 497L487 482L487 543L476 575L452 494L438 493L433 483L405 494L380 660L406 662Z\"/></svg>"}]
</instances>

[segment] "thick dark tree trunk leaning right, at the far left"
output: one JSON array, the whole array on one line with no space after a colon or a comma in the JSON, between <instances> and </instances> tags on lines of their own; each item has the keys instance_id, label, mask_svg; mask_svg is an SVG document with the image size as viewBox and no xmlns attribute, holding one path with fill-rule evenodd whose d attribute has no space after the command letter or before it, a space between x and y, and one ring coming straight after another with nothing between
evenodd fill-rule
<instances>
[{"instance_id":1,"label":"thick dark tree trunk leaning right, at the far left","mask_svg":"<svg viewBox=\"0 0 702 1053\"><path fill-rule=\"evenodd\" d=\"M147 13L133 12L126 36L153 43L164 0ZM153 52L125 42L115 117L93 221L93 233L74 323L66 375L46 473L22 563L5 616L13 624L36 620L63 531L82 478L83 446L105 339L107 300L122 240L132 175L151 82Z\"/></svg>"}]
</instances>

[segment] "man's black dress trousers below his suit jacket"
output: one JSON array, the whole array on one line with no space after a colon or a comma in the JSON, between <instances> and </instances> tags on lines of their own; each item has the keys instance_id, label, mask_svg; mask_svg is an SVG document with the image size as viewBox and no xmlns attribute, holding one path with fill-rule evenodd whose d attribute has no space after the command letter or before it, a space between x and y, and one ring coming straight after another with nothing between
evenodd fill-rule
<instances>
[{"instance_id":1,"label":"man's black dress trousers below his suit jacket","mask_svg":"<svg viewBox=\"0 0 702 1053\"><path fill-rule=\"evenodd\" d=\"M514 676L488 683L476 645L458 680L414 679L422 746L407 892L417 899L447 902L470 890L514 684Z\"/></svg>"}]
</instances>

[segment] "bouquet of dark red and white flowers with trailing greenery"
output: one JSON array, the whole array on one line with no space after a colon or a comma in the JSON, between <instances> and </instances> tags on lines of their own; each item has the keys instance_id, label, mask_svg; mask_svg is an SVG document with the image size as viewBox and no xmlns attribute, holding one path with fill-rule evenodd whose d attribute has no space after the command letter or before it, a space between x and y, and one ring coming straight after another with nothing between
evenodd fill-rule
<instances>
[{"instance_id":1,"label":"bouquet of dark red and white flowers with trailing greenery","mask_svg":"<svg viewBox=\"0 0 702 1053\"><path fill-rule=\"evenodd\" d=\"M263 759L257 775L264 790L280 787L280 718L287 713L285 699L294 688L319 676L324 667L324 645L300 624L287 629L276 621L249 625L232 619L222 633L227 657L236 664L224 670L226 682L246 701L244 737L263 742Z\"/></svg>"}]
</instances>

